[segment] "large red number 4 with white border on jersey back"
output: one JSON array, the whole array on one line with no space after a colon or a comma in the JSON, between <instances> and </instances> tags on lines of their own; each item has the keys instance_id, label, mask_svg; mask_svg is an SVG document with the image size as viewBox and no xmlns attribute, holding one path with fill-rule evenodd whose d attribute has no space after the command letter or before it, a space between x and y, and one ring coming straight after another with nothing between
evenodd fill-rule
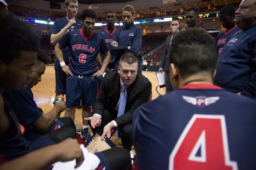
<instances>
[{"instance_id":1,"label":"large red number 4 with white border on jersey back","mask_svg":"<svg viewBox=\"0 0 256 170\"><path fill-rule=\"evenodd\" d=\"M169 170L238 170L230 161L225 116L194 114L171 152Z\"/></svg>"}]
</instances>

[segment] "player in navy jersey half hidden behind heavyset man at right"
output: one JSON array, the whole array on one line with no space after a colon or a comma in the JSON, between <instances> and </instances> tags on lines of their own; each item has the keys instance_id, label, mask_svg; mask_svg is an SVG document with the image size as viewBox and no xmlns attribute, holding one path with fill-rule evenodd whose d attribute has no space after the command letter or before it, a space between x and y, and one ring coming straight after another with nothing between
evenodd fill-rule
<instances>
[{"instance_id":1,"label":"player in navy jersey half hidden behind heavyset man at right","mask_svg":"<svg viewBox=\"0 0 256 170\"><path fill-rule=\"evenodd\" d=\"M218 57L221 54L222 48L224 47L226 42L228 42L229 38L234 33L241 30L234 23L234 17L235 17L235 7L234 6L224 6L221 9L219 19L221 21L221 25L226 29L224 31L222 31L221 33L219 33L215 40Z\"/></svg>"}]
</instances>

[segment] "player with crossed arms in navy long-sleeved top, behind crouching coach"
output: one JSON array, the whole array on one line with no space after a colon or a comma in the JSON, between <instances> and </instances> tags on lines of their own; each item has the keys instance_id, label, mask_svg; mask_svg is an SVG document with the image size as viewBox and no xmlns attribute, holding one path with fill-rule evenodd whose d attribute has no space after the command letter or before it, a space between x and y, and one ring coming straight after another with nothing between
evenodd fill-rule
<instances>
[{"instance_id":1,"label":"player with crossed arms in navy long-sleeved top, behind crouching coach","mask_svg":"<svg viewBox=\"0 0 256 170\"><path fill-rule=\"evenodd\" d=\"M120 57L125 53L132 53L138 59L138 71L141 72L142 29L133 23L136 16L132 6L125 6L122 9L122 14L125 26L116 31L115 37L109 45L111 54L115 55L115 71L118 71Z\"/></svg>"}]
</instances>

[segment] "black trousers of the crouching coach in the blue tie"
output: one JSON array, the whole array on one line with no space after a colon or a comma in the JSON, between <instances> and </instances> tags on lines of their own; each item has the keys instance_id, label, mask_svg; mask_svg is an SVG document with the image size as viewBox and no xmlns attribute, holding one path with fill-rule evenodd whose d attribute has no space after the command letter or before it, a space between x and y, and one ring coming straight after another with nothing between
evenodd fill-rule
<instances>
[{"instance_id":1,"label":"black trousers of the crouching coach in the blue tie","mask_svg":"<svg viewBox=\"0 0 256 170\"><path fill-rule=\"evenodd\" d=\"M93 116L94 112L91 112L88 117ZM109 111L107 109L104 110L103 117L101 118L101 125L99 127L92 128L91 127L91 122L88 121L92 132L94 133L97 129L103 132L103 128L112 120L117 118L118 112L115 111L114 109L112 111ZM131 150L132 148L132 123L125 125L124 127L120 128L121 130L121 139L122 139L122 144L123 147L126 148L127 150Z\"/></svg>"}]
</instances>

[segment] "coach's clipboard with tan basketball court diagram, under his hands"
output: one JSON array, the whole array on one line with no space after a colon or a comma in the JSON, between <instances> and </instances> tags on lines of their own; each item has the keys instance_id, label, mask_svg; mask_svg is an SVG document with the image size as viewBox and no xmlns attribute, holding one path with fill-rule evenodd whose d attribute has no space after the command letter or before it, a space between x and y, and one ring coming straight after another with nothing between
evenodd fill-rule
<instances>
[{"instance_id":1,"label":"coach's clipboard with tan basketball court diagram, under his hands","mask_svg":"<svg viewBox=\"0 0 256 170\"><path fill-rule=\"evenodd\" d=\"M97 130L88 143L85 145L85 148L89 153L97 153L103 150L110 149L112 147L117 147L109 138L106 136L103 139L100 139L102 132Z\"/></svg>"}]
</instances>

